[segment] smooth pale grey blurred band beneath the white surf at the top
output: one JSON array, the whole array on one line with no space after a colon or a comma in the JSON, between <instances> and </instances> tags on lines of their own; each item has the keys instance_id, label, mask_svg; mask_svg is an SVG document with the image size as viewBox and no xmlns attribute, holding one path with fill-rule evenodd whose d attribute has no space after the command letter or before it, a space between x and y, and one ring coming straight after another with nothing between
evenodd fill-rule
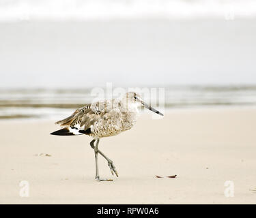
<instances>
[{"instance_id":1,"label":"smooth pale grey blurred band beneath the white surf at the top","mask_svg":"<svg viewBox=\"0 0 256 218\"><path fill-rule=\"evenodd\" d=\"M1 2L5 15L31 1L13 2ZM0 22L0 87L256 83L254 16L46 21L29 13Z\"/></svg>"}]
</instances>

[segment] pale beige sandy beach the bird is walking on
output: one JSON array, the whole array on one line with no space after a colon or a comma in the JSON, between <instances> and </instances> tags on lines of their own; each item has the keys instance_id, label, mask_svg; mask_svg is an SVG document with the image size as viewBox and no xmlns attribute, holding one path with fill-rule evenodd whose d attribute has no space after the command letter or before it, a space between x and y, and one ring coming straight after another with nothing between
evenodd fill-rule
<instances>
[{"instance_id":1,"label":"pale beige sandy beach the bird is walking on","mask_svg":"<svg viewBox=\"0 0 256 218\"><path fill-rule=\"evenodd\" d=\"M51 136L54 121L0 123L1 204L256 203L256 108L143 114L130 131L100 141L119 177L102 157L100 176L113 182L94 180L88 136ZM20 181L29 183L27 198ZM225 181L233 197L225 197Z\"/></svg>"}]
</instances>

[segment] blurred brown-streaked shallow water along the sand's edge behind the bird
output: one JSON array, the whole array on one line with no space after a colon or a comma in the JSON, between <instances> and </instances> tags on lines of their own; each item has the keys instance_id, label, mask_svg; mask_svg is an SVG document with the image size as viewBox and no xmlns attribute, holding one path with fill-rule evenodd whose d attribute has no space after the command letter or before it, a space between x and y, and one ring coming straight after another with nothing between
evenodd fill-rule
<instances>
[{"instance_id":1,"label":"blurred brown-streaked shallow water along the sand's edge behind the bird","mask_svg":"<svg viewBox=\"0 0 256 218\"><path fill-rule=\"evenodd\" d=\"M94 101L91 89L1 89L0 119L61 119ZM150 99L145 99L150 102ZM173 108L256 106L256 86L165 87L165 111ZM156 106L157 107L157 106Z\"/></svg>"}]
</instances>

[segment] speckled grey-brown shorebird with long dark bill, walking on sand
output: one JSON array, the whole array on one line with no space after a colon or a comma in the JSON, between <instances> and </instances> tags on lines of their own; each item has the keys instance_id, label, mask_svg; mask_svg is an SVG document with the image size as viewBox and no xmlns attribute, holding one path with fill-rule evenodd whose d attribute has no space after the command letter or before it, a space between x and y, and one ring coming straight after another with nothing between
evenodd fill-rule
<instances>
[{"instance_id":1,"label":"speckled grey-brown shorebird with long dark bill, walking on sand","mask_svg":"<svg viewBox=\"0 0 256 218\"><path fill-rule=\"evenodd\" d=\"M86 104L68 118L57 121L55 124L63 128L51 133L57 136L88 135L93 138L90 146L94 149L96 161L96 181L113 181L113 179L100 178L98 170L98 153L106 159L112 175L118 176L114 163L98 149L100 138L116 136L134 126L139 116L139 108L144 106L157 114L161 112L145 104L140 95L128 92L122 99L110 99L104 102ZM96 144L94 144L96 142Z\"/></svg>"}]
</instances>

